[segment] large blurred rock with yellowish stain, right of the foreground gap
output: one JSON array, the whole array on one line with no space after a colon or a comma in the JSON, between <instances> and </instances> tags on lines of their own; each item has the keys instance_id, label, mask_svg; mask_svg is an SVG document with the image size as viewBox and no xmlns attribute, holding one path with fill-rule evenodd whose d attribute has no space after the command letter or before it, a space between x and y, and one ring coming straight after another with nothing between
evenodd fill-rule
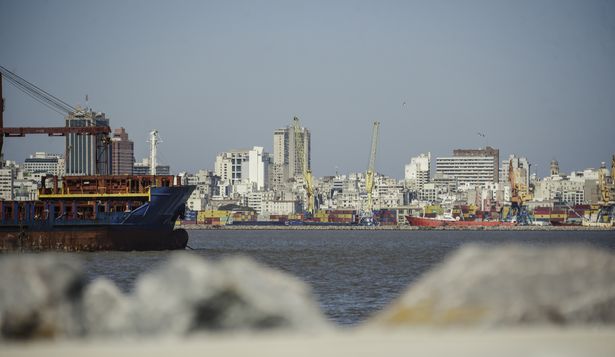
<instances>
[{"instance_id":1,"label":"large blurred rock with yellowish stain, right of the foreground gap","mask_svg":"<svg viewBox=\"0 0 615 357\"><path fill-rule=\"evenodd\" d=\"M615 255L586 246L461 248L367 326L615 323Z\"/></svg>"}]
</instances>

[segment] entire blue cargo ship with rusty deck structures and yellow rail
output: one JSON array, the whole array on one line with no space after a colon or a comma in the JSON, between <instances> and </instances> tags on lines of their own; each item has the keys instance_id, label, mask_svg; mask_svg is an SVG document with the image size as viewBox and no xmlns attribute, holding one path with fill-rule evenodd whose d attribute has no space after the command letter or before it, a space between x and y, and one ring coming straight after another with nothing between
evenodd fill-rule
<instances>
[{"instance_id":1,"label":"entire blue cargo ship with rusty deck structures and yellow rail","mask_svg":"<svg viewBox=\"0 0 615 357\"><path fill-rule=\"evenodd\" d=\"M51 180L43 179L36 201L0 201L0 251L145 251L187 246L188 233L175 229L175 221L194 186L181 185L175 176Z\"/></svg>"}]
</instances>

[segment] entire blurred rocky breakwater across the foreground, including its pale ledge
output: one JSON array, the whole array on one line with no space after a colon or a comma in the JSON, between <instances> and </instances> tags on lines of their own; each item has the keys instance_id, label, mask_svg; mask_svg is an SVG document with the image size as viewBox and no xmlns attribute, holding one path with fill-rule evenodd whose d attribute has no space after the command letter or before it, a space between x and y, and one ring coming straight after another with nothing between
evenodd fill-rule
<instances>
[{"instance_id":1,"label":"entire blurred rocky breakwater across the foreground, including its pale ledge","mask_svg":"<svg viewBox=\"0 0 615 357\"><path fill-rule=\"evenodd\" d=\"M384 311L343 332L327 322L308 286L245 258L210 262L178 253L125 294L106 279L87 283L68 255L0 256L0 343L65 341L8 343L7 355L610 356L614 324L615 255L585 246L463 247ZM237 339L238 331L250 334ZM322 331L331 333L312 333ZM184 336L192 338L178 339ZM139 342L109 343L118 339Z\"/></svg>"}]
</instances>

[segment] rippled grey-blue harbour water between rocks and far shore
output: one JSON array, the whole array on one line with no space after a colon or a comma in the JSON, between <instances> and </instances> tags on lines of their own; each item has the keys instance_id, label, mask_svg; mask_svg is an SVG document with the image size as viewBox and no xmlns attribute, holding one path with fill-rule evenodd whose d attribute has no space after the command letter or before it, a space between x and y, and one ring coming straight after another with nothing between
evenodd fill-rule
<instances>
[{"instance_id":1,"label":"rippled grey-blue harbour water between rocks and far shore","mask_svg":"<svg viewBox=\"0 0 615 357\"><path fill-rule=\"evenodd\" d=\"M337 324L365 320L466 243L548 246L584 243L615 250L615 232L601 231L230 231L190 232L193 253L208 259L241 254L311 285ZM79 253L88 276L105 276L124 291L170 252Z\"/></svg>"}]
</instances>

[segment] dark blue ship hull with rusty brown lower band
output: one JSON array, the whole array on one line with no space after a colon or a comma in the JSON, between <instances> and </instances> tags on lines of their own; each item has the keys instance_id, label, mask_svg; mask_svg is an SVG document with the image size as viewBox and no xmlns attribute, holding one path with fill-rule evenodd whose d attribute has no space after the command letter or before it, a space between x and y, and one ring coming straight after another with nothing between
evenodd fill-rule
<instances>
[{"instance_id":1,"label":"dark blue ship hull with rusty brown lower band","mask_svg":"<svg viewBox=\"0 0 615 357\"><path fill-rule=\"evenodd\" d=\"M188 234L174 226L193 189L194 186L150 188L148 200L135 209L97 212L95 204L91 218L80 217L76 210L67 214L75 203L66 199L61 204L58 200L3 202L3 212L10 207L17 213L9 219L2 215L0 251L185 249ZM36 213L37 205L39 211L42 205L45 215ZM110 205L108 200L105 205Z\"/></svg>"}]
</instances>

